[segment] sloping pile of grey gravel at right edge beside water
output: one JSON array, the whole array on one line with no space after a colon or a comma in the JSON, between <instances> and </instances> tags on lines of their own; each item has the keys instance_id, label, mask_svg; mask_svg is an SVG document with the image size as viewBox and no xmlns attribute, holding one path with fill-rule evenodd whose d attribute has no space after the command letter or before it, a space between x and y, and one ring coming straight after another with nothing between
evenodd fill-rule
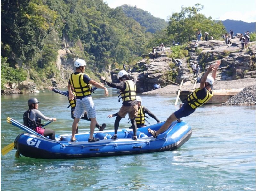
<instances>
[{"instance_id":1,"label":"sloping pile of grey gravel at right edge beside water","mask_svg":"<svg viewBox=\"0 0 256 191\"><path fill-rule=\"evenodd\" d=\"M244 88L222 105L255 105L255 84Z\"/></svg>"}]
</instances>

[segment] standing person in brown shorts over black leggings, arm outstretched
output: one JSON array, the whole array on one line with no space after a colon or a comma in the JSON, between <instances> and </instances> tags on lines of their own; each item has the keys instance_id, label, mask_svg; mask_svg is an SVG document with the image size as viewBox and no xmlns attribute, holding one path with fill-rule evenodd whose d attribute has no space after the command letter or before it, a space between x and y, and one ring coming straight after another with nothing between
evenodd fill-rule
<instances>
[{"instance_id":1,"label":"standing person in brown shorts over black leggings, arm outstretched","mask_svg":"<svg viewBox=\"0 0 256 191\"><path fill-rule=\"evenodd\" d=\"M115 134L111 137L111 139L117 139L117 130L119 127L119 122L122 118L125 118L126 114L129 114L129 118L131 119L132 130L133 130L133 140L137 140L137 126L135 122L135 117L138 115L138 105L136 101L136 85L135 83L130 80L128 73L125 70L121 70L117 74L117 79L120 83L111 83L106 81L106 79L101 76L101 79L104 81L105 84L112 88L120 89L120 95L123 101L123 105L121 109L118 111L114 128ZM120 96L119 95L119 96ZM119 97L118 96L118 97ZM120 102L120 99L118 102Z\"/></svg>"}]
</instances>

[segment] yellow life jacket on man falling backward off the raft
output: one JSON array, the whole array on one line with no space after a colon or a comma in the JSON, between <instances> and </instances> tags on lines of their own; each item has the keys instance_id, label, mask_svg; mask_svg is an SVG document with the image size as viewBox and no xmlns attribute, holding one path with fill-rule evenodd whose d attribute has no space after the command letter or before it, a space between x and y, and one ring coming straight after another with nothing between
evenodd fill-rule
<instances>
[{"instance_id":1,"label":"yellow life jacket on man falling backward off the raft","mask_svg":"<svg viewBox=\"0 0 256 191\"><path fill-rule=\"evenodd\" d=\"M196 92L198 92L199 90L200 90L200 88L195 89L195 90L192 91L192 92L188 95L188 97L187 97L188 104L189 104L193 109L196 109L196 108L200 107L201 105L203 105L204 103L208 102L209 99L211 99L212 96L213 96L212 91L210 92L209 90L207 90L207 94L206 94L206 96L204 97L204 99L198 99L197 96L196 96Z\"/></svg>"}]
</instances>

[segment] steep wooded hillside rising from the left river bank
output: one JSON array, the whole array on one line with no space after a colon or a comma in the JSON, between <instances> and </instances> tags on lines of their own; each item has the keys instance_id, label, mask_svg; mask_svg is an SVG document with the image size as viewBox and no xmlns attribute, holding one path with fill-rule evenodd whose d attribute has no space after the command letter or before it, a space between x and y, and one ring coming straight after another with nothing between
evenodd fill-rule
<instances>
[{"instance_id":1,"label":"steep wooded hillside rising from the left river bank","mask_svg":"<svg viewBox=\"0 0 256 191\"><path fill-rule=\"evenodd\" d=\"M27 71L22 79L28 73L34 81L58 75L61 48L70 48L67 58L85 59L95 72L145 51L145 28L102 0L2 0L1 9L1 57L7 58L1 60ZM11 80L8 70L1 74Z\"/></svg>"}]
</instances>

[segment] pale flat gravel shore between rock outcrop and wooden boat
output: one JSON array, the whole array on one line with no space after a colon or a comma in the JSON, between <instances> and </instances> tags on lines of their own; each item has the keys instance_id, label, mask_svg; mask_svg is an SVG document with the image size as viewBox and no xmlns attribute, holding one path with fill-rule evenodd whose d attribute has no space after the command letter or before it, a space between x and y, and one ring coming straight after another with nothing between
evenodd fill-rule
<instances>
[{"instance_id":1,"label":"pale flat gravel shore between rock outcrop and wooden boat","mask_svg":"<svg viewBox=\"0 0 256 191\"><path fill-rule=\"evenodd\" d=\"M254 85L254 93L255 93L255 78L243 78L243 79L232 80L232 81L216 81L214 83L213 88L214 88L214 90L239 89L239 88L245 88L245 87L251 86L251 85ZM186 85L184 87L186 87L188 89L192 89L193 86L194 85L191 84L191 85ZM199 88L199 86L200 86L200 84L196 84L196 88ZM143 94L176 94L176 91L178 91L178 89L179 89L178 85L167 85L164 88L144 92ZM186 89L181 88L181 90L186 90ZM255 100L255 98L254 98L254 100Z\"/></svg>"}]
</instances>

